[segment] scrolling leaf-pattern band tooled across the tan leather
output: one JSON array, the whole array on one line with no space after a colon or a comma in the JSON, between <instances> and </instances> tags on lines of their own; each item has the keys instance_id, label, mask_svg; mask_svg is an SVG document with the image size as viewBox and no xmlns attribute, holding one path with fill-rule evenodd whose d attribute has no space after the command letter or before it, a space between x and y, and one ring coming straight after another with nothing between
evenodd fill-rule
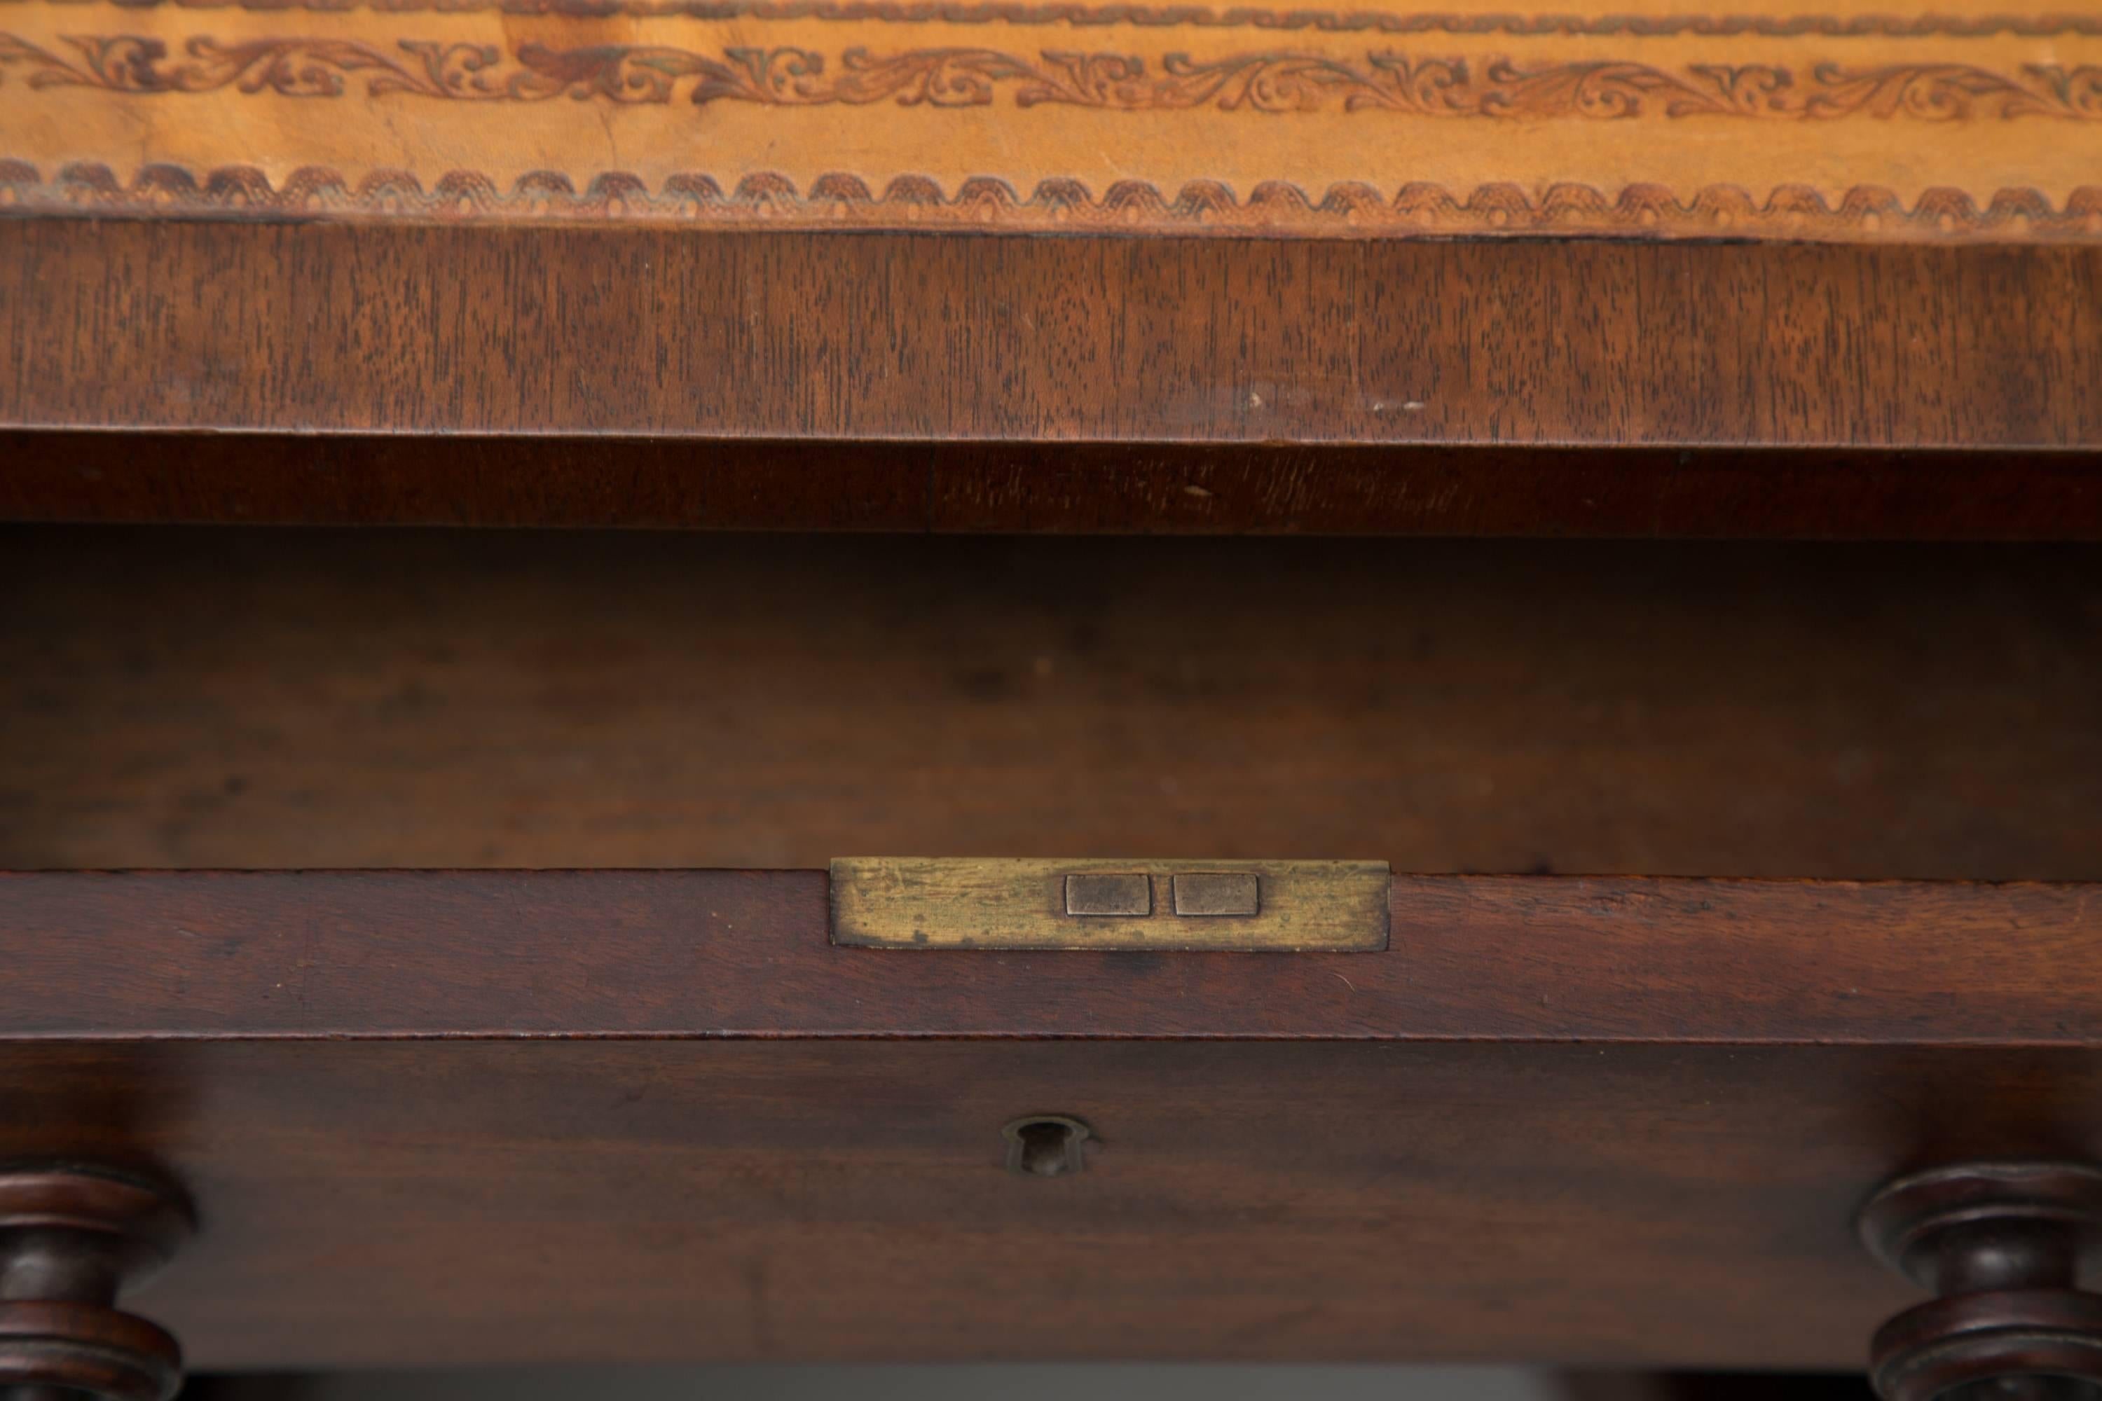
<instances>
[{"instance_id":1,"label":"scrolling leaf-pattern band tooled across the tan leather","mask_svg":"<svg viewBox=\"0 0 2102 1401\"><path fill-rule=\"evenodd\" d=\"M549 48L523 44L507 61L494 44L401 40L395 57L364 40L261 38L233 44L200 36L185 59L158 38L71 36L67 59L0 34L0 69L27 69L32 88L107 92L275 92L341 97L362 78L370 97L408 92L450 101L540 103L555 97L612 103L767 107L866 105L984 107L1011 88L1017 107L1068 105L1108 111L1402 111L1429 118L1984 118L2102 120L2102 67L2026 65L1995 74L1967 63L1885 63L1808 71L1749 63L1696 63L1665 71L1648 63L1587 61L1522 67L1509 59L1362 61L1255 53L1196 61L1167 55L1160 71L1114 53L1045 50L1034 61L996 48L912 48L872 55L849 48L837 65L809 48L725 48L704 55L662 44Z\"/></svg>"}]
</instances>

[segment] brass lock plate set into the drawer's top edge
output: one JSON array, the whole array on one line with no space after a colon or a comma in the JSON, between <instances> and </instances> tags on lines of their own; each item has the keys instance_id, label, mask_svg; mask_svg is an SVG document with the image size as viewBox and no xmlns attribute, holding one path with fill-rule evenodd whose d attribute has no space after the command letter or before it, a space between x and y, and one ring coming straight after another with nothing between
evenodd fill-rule
<instances>
[{"instance_id":1,"label":"brass lock plate set into the drawer's top edge","mask_svg":"<svg viewBox=\"0 0 2102 1401\"><path fill-rule=\"evenodd\" d=\"M1387 863L839 857L832 943L1375 954Z\"/></svg>"}]
</instances>

